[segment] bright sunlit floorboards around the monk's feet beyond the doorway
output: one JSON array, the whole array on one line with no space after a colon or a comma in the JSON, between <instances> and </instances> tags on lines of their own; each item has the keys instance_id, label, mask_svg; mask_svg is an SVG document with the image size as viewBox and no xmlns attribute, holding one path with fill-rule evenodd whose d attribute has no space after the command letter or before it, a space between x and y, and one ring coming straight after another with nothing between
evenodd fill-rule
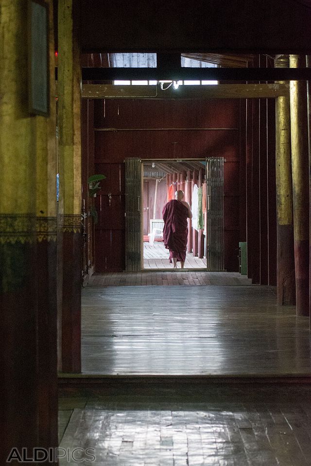
<instances>
[{"instance_id":1,"label":"bright sunlit floorboards around the monk's feet beyond the doorway","mask_svg":"<svg viewBox=\"0 0 311 466\"><path fill-rule=\"evenodd\" d=\"M169 262L170 251L165 249L162 242L157 241L153 245L144 242L144 268L173 268L173 264ZM180 267L180 263L177 263ZM206 269L206 259L193 257L192 253L187 253L185 268L203 268Z\"/></svg>"}]
</instances>

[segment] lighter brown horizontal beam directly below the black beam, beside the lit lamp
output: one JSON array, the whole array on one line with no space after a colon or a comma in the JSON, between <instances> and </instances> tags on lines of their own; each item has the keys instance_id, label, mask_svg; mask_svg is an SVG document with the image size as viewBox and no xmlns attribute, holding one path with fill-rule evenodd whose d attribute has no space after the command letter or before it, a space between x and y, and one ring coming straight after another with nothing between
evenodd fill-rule
<instances>
[{"instance_id":1,"label":"lighter brown horizontal beam directly below the black beam, beside the lit lamp","mask_svg":"<svg viewBox=\"0 0 311 466\"><path fill-rule=\"evenodd\" d=\"M259 99L280 96L289 96L289 83L182 85L178 89L173 89L171 86L166 90L161 90L159 86L148 85L83 84L82 86L83 99Z\"/></svg>"}]
</instances>

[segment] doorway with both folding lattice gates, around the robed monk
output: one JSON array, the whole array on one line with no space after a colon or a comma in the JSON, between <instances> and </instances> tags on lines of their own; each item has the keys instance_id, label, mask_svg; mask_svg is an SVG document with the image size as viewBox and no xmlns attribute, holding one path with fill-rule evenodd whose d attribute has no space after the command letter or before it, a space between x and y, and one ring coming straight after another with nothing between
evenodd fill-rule
<instances>
[{"instance_id":1,"label":"doorway with both folding lattice gates, around the robed monk","mask_svg":"<svg viewBox=\"0 0 311 466\"><path fill-rule=\"evenodd\" d=\"M125 180L125 259L127 271L144 270L144 257L148 259L146 253L144 254L144 249L146 251L151 249L155 253L155 250L161 247L155 243L161 243L163 240L164 223L162 215L160 215L163 209L162 204L165 205L165 196L166 201L173 199L174 192L178 188L185 193L185 200L195 212L188 224L190 233L187 240L188 254L192 253L192 257L202 259L204 264L200 267L202 263L199 263L199 266L196 266L197 263L195 263L190 268L192 270L201 268L208 271L224 270L223 157L188 160L156 159L154 161L128 158L125 160ZM154 183L151 184L150 182L153 180ZM165 181L163 182L163 180ZM158 195L158 192L161 194ZM194 192L196 192L195 197ZM159 198L161 201L158 201ZM152 214L150 214L151 211ZM144 243L147 242L149 244L145 245ZM153 248L150 248L149 245ZM166 251L163 251L162 248L162 252L164 254ZM167 262L163 261L166 257L154 256L157 263L147 262L146 269L148 266L164 271L171 268L170 264L168 265Z\"/></svg>"}]
</instances>

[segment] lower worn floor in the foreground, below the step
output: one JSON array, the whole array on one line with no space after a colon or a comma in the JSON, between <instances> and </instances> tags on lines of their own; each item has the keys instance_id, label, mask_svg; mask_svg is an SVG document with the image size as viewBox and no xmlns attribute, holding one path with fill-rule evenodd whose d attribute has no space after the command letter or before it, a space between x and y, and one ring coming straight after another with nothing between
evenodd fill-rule
<instances>
[{"instance_id":1,"label":"lower worn floor in the foreground, below the step","mask_svg":"<svg viewBox=\"0 0 311 466\"><path fill-rule=\"evenodd\" d=\"M60 447L92 449L94 462L70 465L310 466L310 400L310 384L61 396Z\"/></svg>"}]
</instances>

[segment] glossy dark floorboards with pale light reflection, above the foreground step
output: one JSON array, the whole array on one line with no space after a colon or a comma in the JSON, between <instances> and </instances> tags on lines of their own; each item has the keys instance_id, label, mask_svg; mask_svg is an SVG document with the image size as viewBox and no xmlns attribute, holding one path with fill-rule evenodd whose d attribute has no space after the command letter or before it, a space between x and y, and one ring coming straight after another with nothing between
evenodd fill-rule
<instances>
[{"instance_id":1,"label":"glossy dark floorboards with pale light reflection, above the foreground step","mask_svg":"<svg viewBox=\"0 0 311 466\"><path fill-rule=\"evenodd\" d=\"M259 286L87 287L85 374L311 374L309 319Z\"/></svg>"}]
</instances>

